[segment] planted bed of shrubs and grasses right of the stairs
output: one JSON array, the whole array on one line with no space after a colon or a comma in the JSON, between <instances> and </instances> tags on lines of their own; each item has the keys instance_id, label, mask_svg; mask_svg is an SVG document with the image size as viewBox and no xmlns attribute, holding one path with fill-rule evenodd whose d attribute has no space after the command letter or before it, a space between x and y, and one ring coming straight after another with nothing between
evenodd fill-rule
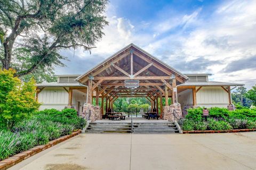
<instances>
[{"instance_id":1,"label":"planted bed of shrubs and grasses right of the stairs","mask_svg":"<svg viewBox=\"0 0 256 170\"><path fill-rule=\"evenodd\" d=\"M209 116L203 116L203 108L190 108L185 118L179 121L183 133L220 133L254 131L256 129L256 111L213 107Z\"/></svg>"}]
</instances>

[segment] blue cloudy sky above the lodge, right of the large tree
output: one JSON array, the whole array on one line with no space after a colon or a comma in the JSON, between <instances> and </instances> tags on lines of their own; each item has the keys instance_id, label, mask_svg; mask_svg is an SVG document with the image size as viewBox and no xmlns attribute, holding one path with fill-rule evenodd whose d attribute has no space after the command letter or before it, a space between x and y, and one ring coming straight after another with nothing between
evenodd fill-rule
<instances>
[{"instance_id":1,"label":"blue cloudy sky above the lodge, right of the large tree","mask_svg":"<svg viewBox=\"0 0 256 170\"><path fill-rule=\"evenodd\" d=\"M133 43L182 73L210 81L256 84L256 1L110 0L105 36L89 52L61 50L66 67L82 74Z\"/></svg>"}]
</instances>

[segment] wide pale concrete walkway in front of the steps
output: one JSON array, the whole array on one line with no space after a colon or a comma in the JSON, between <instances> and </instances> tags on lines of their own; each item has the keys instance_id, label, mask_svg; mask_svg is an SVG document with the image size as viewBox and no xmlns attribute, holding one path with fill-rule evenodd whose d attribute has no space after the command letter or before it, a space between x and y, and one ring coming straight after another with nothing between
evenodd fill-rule
<instances>
[{"instance_id":1,"label":"wide pale concrete walkway in front of the steps","mask_svg":"<svg viewBox=\"0 0 256 170\"><path fill-rule=\"evenodd\" d=\"M256 132L80 134L10 169L256 169Z\"/></svg>"}]
</instances>

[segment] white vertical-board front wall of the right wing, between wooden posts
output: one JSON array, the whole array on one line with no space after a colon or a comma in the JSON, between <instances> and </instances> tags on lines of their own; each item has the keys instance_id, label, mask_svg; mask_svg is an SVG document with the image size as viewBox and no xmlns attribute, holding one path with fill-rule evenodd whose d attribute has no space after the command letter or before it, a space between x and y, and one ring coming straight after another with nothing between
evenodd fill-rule
<instances>
[{"instance_id":1,"label":"white vertical-board front wall of the right wing, between wooden posts","mask_svg":"<svg viewBox=\"0 0 256 170\"><path fill-rule=\"evenodd\" d=\"M202 87L196 93L197 106L227 107L228 102L228 93L221 87Z\"/></svg>"}]
</instances>

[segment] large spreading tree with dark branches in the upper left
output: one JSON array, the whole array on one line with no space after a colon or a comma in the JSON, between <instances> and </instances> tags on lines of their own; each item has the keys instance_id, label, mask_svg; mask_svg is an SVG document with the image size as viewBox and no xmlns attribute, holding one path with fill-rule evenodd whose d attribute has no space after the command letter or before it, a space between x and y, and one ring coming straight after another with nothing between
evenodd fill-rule
<instances>
[{"instance_id":1,"label":"large spreading tree with dark branches in the upper left","mask_svg":"<svg viewBox=\"0 0 256 170\"><path fill-rule=\"evenodd\" d=\"M60 49L90 50L108 24L103 16L106 4L107 0L0 0L2 69L12 67L17 47L26 48L31 55L29 67L15 73L18 77L38 68L63 65Z\"/></svg>"}]
</instances>

